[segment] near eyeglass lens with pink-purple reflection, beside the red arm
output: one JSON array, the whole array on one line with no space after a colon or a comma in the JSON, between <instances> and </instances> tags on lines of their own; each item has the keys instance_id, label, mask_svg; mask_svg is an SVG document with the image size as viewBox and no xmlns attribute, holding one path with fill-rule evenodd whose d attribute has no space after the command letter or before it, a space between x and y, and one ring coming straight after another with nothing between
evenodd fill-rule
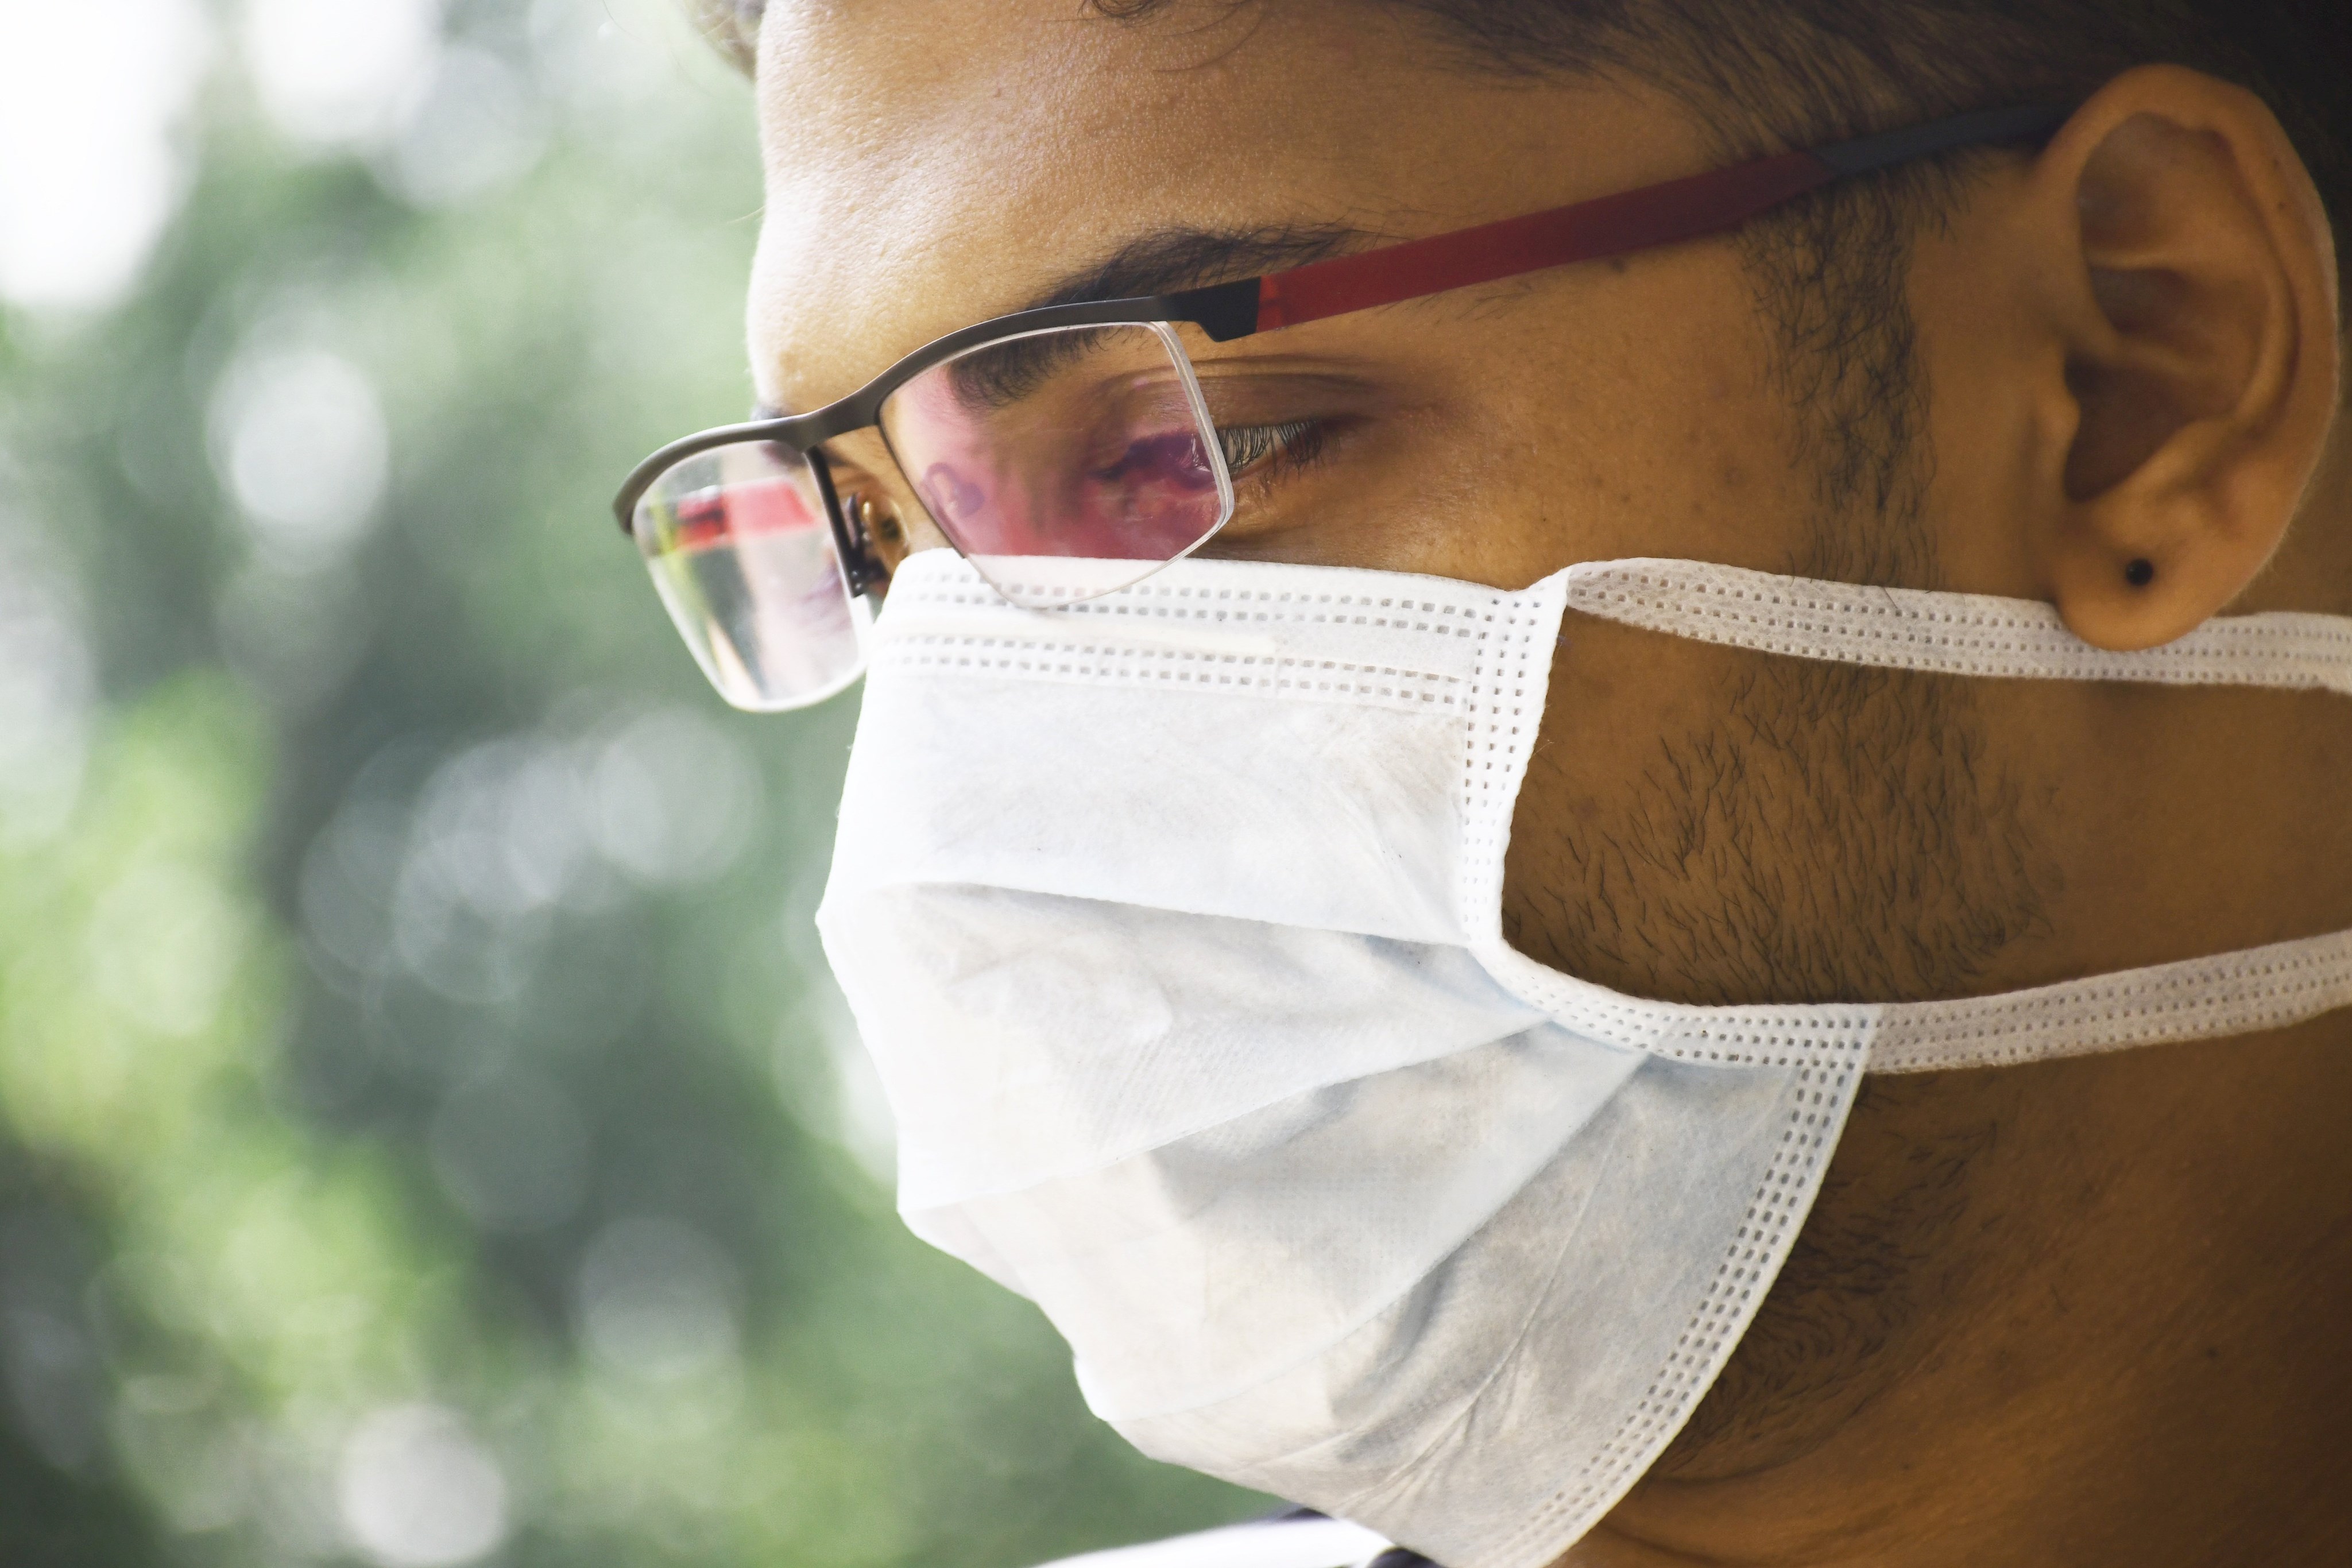
<instances>
[{"instance_id":1,"label":"near eyeglass lens with pink-purple reflection, beside the red arm","mask_svg":"<svg viewBox=\"0 0 2352 1568\"><path fill-rule=\"evenodd\" d=\"M988 343L891 393L882 433L938 529L1016 604L1136 583L1232 515L1167 327Z\"/></svg>"}]
</instances>

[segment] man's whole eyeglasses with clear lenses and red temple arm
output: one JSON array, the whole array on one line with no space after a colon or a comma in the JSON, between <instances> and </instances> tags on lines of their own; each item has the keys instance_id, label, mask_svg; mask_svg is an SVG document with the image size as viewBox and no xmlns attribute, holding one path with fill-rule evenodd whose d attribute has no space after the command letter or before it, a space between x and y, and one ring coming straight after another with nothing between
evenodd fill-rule
<instances>
[{"instance_id":1,"label":"man's whole eyeglasses with clear lenses and red temple arm","mask_svg":"<svg viewBox=\"0 0 2352 1568\"><path fill-rule=\"evenodd\" d=\"M1143 581L1232 517L1232 473L1176 324L1214 343L1571 261L1696 240L1832 181L2044 139L2067 110L1997 108L1715 169L1237 282L1047 306L964 327L809 414L703 430L614 501L696 663L736 708L818 703L866 668L889 571L823 444L880 430L938 531L1014 604Z\"/></svg>"}]
</instances>

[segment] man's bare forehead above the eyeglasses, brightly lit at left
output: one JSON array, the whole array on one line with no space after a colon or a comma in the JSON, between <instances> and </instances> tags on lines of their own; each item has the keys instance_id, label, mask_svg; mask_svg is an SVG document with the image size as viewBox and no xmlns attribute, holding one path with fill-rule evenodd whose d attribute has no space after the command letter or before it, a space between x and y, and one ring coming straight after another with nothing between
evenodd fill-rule
<instances>
[{"instance_id":1,"label":"man's bare forehead above the eyeglasses, brightly lit at left","mask_svg":"<svg viewBox=\"0 0 2352 1568\"><path fill-rule=\"evenodd\" d=\"M760 136L748 327L786 409L1152 230L1439 233L1696 155L1651 101L1463 71L1376 5L771 0Z\"/></svg>"}]
</instances>

